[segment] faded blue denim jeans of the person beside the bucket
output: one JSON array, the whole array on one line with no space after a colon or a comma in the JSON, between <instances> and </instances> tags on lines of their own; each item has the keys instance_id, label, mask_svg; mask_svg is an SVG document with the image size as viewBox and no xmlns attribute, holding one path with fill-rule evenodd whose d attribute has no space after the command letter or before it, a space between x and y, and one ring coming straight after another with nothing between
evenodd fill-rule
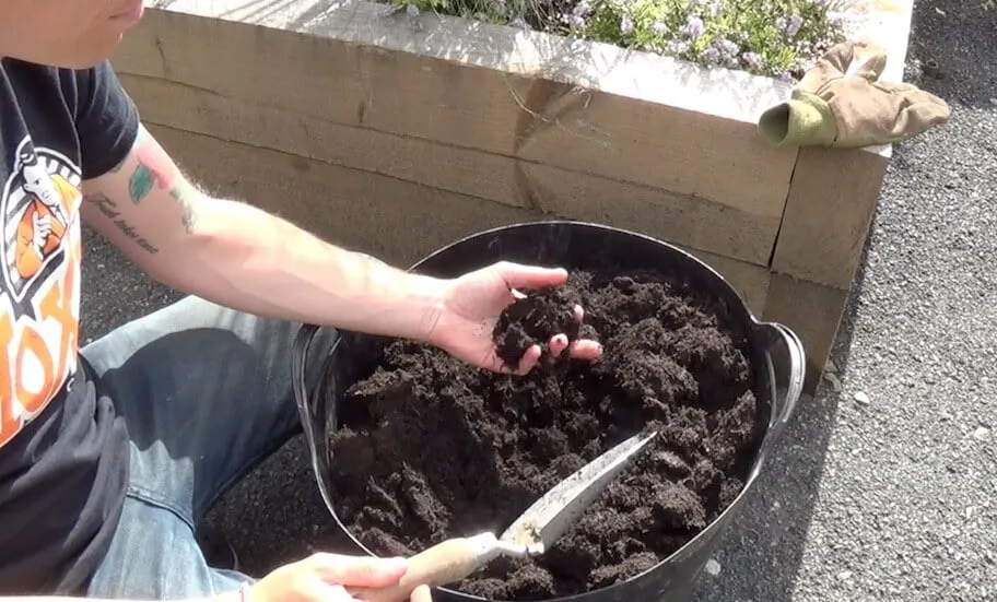
<instances>
[{"instance_id":1,"label":"faded blue denim jeans of the person beside the bucket","mask_svg":"<svg viewBox=\"0 0 997 602\"><path fill-rule=\"evenodd\" d=\"M124 512L90 597L203 598L251 580L208 566L195 528L300 432L290 369L297 327L187 297L82 350L131 438ZM312 349L335 337L322 331Z\"/></svg>"}]
</instances>

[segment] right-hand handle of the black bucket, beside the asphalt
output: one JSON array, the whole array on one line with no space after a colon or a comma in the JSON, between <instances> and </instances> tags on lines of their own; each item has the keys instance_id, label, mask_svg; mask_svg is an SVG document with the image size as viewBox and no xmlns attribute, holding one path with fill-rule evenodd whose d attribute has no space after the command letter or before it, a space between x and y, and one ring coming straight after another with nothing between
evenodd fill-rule
<instances>
[{"instance_id":1,"label":"right-hand handle of the black bucket, beside the asphalt","mask_svg":"<svg viewBox=\"0 0 997 602\"><path fill-rule=\"evenodd\" d=\"M775 423L772 425L771 440L775 441L785 430L804 391L807 353L799 337L788 327L777 322L762 322L759 329L762 344L772 359L772 381L775 385L772 413Z\"/></svg>"}]
</instances>

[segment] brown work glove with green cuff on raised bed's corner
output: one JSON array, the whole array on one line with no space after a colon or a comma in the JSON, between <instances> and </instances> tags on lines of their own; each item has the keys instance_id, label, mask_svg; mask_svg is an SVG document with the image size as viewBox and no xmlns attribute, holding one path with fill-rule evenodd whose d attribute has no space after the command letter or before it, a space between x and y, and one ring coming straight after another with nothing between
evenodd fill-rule
<instances>
[{"instance_id":1,"label":"brown work glove with green cuff on raised bed's corner","mask_svg":"<svg viewBox=\"0 0 997 602\"><path fill-rule=\"evenodd\" d=\"M885 51L873 44L832 47L765 113L759 132L776 147L842 149L902 142L949 120L945 101L907 83L880 82Z\"/></svg>"}]
</instances>

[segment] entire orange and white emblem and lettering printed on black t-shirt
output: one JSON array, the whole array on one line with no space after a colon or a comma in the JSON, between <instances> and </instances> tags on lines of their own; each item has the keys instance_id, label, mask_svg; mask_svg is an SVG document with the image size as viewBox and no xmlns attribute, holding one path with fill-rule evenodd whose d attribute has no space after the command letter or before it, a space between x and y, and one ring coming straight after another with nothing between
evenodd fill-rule
<instances>
[{"instance_id":1,"label":"entire orange and white emblem and lettering printed on black t-shirt","mask_svg":"<svg viewBox=\"0 0 997 602\"><path fill-rule=\"evenodd\" d=\"M25 139L0 196L0 448L77 371L81 174L71 160ZM3 239L0 238L0 244Z\"/></svg>"}]
</instances>

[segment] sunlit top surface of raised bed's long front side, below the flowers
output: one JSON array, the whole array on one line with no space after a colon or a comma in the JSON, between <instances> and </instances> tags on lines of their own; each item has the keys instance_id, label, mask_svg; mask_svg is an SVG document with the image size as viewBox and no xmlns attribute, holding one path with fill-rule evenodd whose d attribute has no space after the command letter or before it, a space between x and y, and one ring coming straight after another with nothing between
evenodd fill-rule
<instances>
[{"instance_id":1,"label":"sunlit top surface of raised bed's long front side, below the flowers","mask_svg":"<svg viewBox=\"0 0 997 602\"><path fill-rule=\"evenodd\" d=\"M305 0L272 10L243 0L165 0L152 8L541 76L751 125L790 90L771 78L606 43L432 13L410 20L386 4L363 0ZM649 79L647 73L660 78Z\"/></svg>"}]
</instances>

